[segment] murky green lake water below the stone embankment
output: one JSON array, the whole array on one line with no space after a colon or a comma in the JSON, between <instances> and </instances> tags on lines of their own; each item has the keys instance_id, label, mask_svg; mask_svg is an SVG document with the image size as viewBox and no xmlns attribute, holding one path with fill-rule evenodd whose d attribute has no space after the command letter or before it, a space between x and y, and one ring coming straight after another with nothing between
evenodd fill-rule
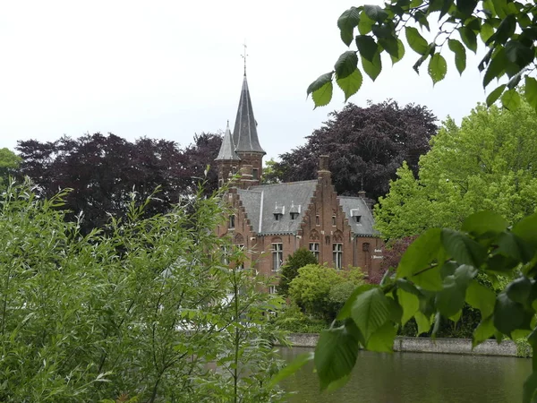
<instances>
[{"instance_id":1,"label":"murky green lake water below the stone embankment","mask_svg":"<svg viewBox=\"0 0 537 403\"><path fill-rule=\"evenodd\" d=\"M311 348L281 348L290 362ZM296 390L289 402L312 403L517 403L532 371L527 358L361 351L350 381L320 393L313 365L283 383Z\"/></svg>"}]
</instances>

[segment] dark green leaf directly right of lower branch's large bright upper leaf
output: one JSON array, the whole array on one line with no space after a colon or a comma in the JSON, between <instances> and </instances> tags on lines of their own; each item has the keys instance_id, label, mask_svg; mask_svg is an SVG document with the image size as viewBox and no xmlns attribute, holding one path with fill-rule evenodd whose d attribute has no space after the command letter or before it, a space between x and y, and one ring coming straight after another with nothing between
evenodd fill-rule
<instances>
[{"instance_id":1,"label":"dark green leaf directly right of lower branch's large bright upper leaf","mask_svg":"<svg viewBox=\"0 0 537 403\"><path fill-rule=\"evenodd\" d=\"M444 248L456 262L480 267L487 258L487 250L469 236L452 229L442 229Z\"/></svg>"}]
</instances>

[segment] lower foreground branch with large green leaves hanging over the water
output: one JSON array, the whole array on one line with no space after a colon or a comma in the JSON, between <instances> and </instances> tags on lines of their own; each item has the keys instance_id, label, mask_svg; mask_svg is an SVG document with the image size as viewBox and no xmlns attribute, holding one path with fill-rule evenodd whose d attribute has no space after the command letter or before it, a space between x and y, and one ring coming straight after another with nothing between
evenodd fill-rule
<instances>
[{"instance_id":1,"label":"lower foreground branch with large green leaves hanging over the water","mask_svg":"<svg viewBox=\"0 0 537 403\"><path fill-rule=\"evenodd\" d=\"M481 211L465 219L460 231L431 228L403 255L393 275L380 285L354 290L339 314L339 326L320 333L315 354L300 356L273 378L277 382L313 360L321 390L348 380L358 349L391 352L398 328L414 318L418 333L458 321L464 304L481 313L473 347L494 337L527 338L537 347L537 214L508 227L496 213ZM479 276L479 280L478 280ZM482 281L514 279L498 295ZM524 383L524 403L537 401L537 355Z\"/></svg>"}]
</instances>

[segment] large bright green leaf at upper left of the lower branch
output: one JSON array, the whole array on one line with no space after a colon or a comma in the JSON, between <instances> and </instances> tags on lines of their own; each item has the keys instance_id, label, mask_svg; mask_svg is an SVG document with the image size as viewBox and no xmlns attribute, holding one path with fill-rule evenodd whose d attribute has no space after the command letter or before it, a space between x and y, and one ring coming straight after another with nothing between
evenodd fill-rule
<instances>
[{"instance_id":1,"label":"large bright green leaf at upper left of the lower branch","mask_svg":"<svg viewBox=\"0 0 537 403\"><path fill-rule=\"evenodd\" d=\"M440 228L430 228L406 249L397 267L396 278L411 277L430 265L442 249L440 233Z\"/></svg>"}]
</instances>

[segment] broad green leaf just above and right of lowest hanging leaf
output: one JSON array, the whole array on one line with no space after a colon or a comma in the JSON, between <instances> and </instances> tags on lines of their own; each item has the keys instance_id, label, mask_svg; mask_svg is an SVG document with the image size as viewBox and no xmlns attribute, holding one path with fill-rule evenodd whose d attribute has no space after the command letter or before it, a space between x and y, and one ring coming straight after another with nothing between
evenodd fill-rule
<instances>
[{"instance_id":1,"label":"broad green leaf just above and right of lowest hanging leaf","mask_svg":"<svg viewBox=\"0 0 537 403\"><path fill-rule=\"evenodd\" d=\"M367 344L371 334L389 319L388 297L380 288L372 288L356 296L352 317Z\"/></svg>"}]
</instances>

